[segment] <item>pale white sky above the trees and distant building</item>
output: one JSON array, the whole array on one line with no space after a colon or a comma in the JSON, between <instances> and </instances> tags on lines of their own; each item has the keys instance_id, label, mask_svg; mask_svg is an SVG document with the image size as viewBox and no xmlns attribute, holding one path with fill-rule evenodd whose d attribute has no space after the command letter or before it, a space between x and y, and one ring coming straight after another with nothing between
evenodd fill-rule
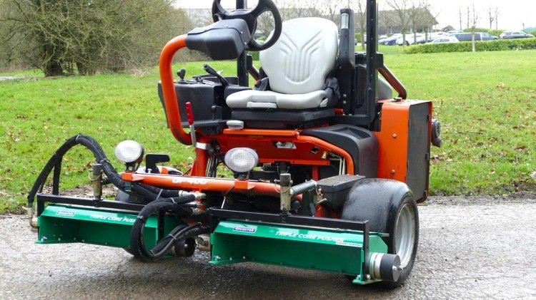
<instances>
[{"instance_id":1,"label":"pale white sky above the trees and distant building","mask_svg":"<svg viewBox=\"0 0 536 300\"><path fill-rule=\"evenodd\" d=\"M257 0L254 0L257 2ZM280 0L284 1L284 0ZM222 0L223 4L234 4L233 0ZM475 4L478 15L477 27L489 28L489 16L487 9L499 7L499 29L521 30L523 23L525 27L536 26L536 1L535 0L429 0L432 5L432 13L438 14L437 21L440 29L447 25L460 27L460 8L462 14L466 14L467 6ZM177 4L183 8L210 9L212 0L177 0ZM380 9L386 6L384 0L379 0ZM467 17L462 17L463 26L467 26ZM493 24L495 29L495 21Z\"/></svg>"}]
</instances>

